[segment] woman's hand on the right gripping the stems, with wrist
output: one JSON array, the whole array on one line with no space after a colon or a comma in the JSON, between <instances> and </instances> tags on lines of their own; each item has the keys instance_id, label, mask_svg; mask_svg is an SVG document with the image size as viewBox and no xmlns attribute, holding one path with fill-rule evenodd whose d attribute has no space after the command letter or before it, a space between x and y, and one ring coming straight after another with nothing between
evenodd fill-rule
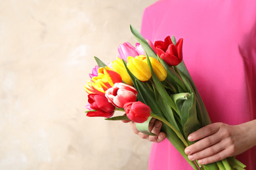
<instances>
[{"instance_id":1,"label":"woman's hand on the right gripping the stems, with wrist","mask_svg":"<svg viewBox=\"0 0 256 170\"><path fill-rule=\"evenodd\" d=\"M256 120L237 126L210 124L191 133L188 140L197 141L185 149L189 160L198 160L200 164L213 163L255 146Z\"/></svg>"}]
</instances>

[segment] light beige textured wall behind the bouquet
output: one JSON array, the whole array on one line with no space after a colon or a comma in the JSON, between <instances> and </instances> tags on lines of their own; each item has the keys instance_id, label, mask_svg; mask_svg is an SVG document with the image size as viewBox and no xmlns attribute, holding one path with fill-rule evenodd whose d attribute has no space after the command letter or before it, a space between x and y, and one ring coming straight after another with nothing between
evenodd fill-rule
<instances>
[{"instance_id":1,"label":"light beige textured wall behind the bouquet","mask_svg":"<svg viewBox=\"0 0 256 170\"><path fill-rule=\"evenodd\" d=\"M0 169L147 169L129 124L85 116L83 84L156 0L0 0Z\"/></svg>"}]
</instances>

